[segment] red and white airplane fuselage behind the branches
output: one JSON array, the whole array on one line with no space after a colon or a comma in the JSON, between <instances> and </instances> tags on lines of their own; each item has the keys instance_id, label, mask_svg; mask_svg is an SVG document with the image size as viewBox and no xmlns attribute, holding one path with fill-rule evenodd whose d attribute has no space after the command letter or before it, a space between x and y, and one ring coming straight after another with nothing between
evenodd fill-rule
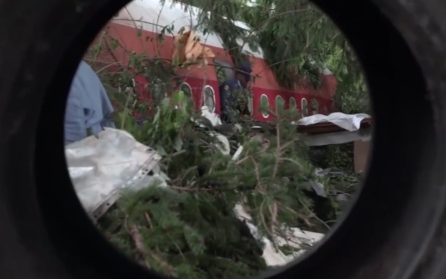
<instances>
[{"instance_id":1,"label":"red and white airplane fuselage behind the branches","mask_svg":"<svg viewBox=\"0 0 446 279\"><path fill-rule=\"evenodd\" d=\"M164 6L159 0L135 0L121 9L107 24L108 35L117 39L122 47L113 50L114 58L107 57L107 54L100 54L102 61L125 63L129 60L129 51L136 53L145 53L148 57L161 57L171 60L173 50L173 34L180 29L190 29L190 26L198 24L198 8L188 7L187 12L184 6L178 3L172 3L166 0ZM249 32L249 27L241 22L236 22L239 27ZM156 38L161 33L163 27L173 27L172 33L165 33L164 40L148 40L146 38ZM184 78L185 85L192 89L193 97L197 106L203 104L203 89L208 88L212 91L215 111L219 113L220 98L218 94L219 84L215 64L233 66L232 59L224 49L222 40L217 34L203 34L198 28L196 35L201 38L201 43L212 49L215 54L214 61L209 61L209 65L204 68L192 66L189 69L178 69L178 75ZM307 107L307 115L328 114L331 112L333 96L336 92L336 78L328 70L321 70L321 85L315 89L311 84L304 81L296 83L293 90L285 89L279 86L273 71L267 66L262 50L253 51L248 44L243 44L240 40L239 45L243 46L242 51L249 54L252 68L252 75L259 77L254 79L252 84L252 113L256 120L271 120L271 115L261 113L259 107L261 98L267 98L270 109L274 110L276 100L283 98L285 106L296 104L302 111L302 107ZM229 73L230 74L230 73ZM143 77L135 78L140 85L147 83ZM144 90L142 90L144 91ZM139 92L144 94L144 92ZM147 93L147 92L146 92ZM265 100L264 100L265 101ZM305 115L305 111L302 111Z\"/></svg>"}]
</instances>

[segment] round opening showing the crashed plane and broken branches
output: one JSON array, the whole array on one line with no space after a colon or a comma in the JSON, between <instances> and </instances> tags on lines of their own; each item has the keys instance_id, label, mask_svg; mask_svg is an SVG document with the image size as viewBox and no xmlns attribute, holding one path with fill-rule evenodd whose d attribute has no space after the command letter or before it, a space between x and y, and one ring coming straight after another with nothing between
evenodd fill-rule
<instances>
[{"instance_id":1,"label":"round opening showing the crashed plane and broken branches","mask_svg":"<svg viewBox=\"0 0 446 279\"><path fill-rule=\"evenodd\" d=\"M227 3L209 2L212 11L207 12L218 18L203 23L214 28L210 32L182 28L198 22L199 7L170 0L141 3L129 3L98 33L73 79L86 84L85 92L72 86L69 93L66 159L85 211L110 206L95 216L104 238L144 267L179 278L255 276L299 258L330 233L366 171L370 125L359 133L364 135L360 143L334 142L322 128L343 128L322 115L313 117L320 105L327 114L334 95L344 100L341 113L364 113L365 90L355 96L335 91L343 80L355 85L364 80L343 76L359 69L351 48L344 47L346 39L308 3L274 0L254 8L240 3L222 11L217 8ZM304 11L281 15L296 9ZM191 16L190 10L197 13ZM227 20L248 10L253 15L238 27ZM262 23L265 13L274 21ZM148 24L155 21L156 26ZM248 26L262 26L262 32ZM277 32L277 26L288 26L283 29L288 31ZM242 53L231 52L239 57L230 58L223 45L242 41L234 37L240 28L256 41L240 43ZM311 46L311 52L302 48L303 39L316 38L328 45ZM263 43L267 39L276 45ZM109 49L101 47L105 42ZM133 53L132 60L113 59L122 53ZM172 53L179 54L172 58ZM100 63L91 63L93 59ZM294 69L296 59L305 61L298 72L307 73L299 79L283 71ZM274 62L284 64L267 66ZM340 71L345 67L348 71ZM150 92L162 97L147 101L138 90L117 90L121 83L130 84L135 73L144 73L144 86L162 90ZM192 97L190 84L203 88L193 104L178 94ZM247 105L243 90L251 92ZM87 95L79 115L75 101ZM203 104L209 111L202 111ZM135 115L144 121L137 123ZM364 121L371 123L370 118ZM87 137L84 126L92 136ZM114 194L119 195L116 202L105 200Z\"/></svg>"}]
</instances>

